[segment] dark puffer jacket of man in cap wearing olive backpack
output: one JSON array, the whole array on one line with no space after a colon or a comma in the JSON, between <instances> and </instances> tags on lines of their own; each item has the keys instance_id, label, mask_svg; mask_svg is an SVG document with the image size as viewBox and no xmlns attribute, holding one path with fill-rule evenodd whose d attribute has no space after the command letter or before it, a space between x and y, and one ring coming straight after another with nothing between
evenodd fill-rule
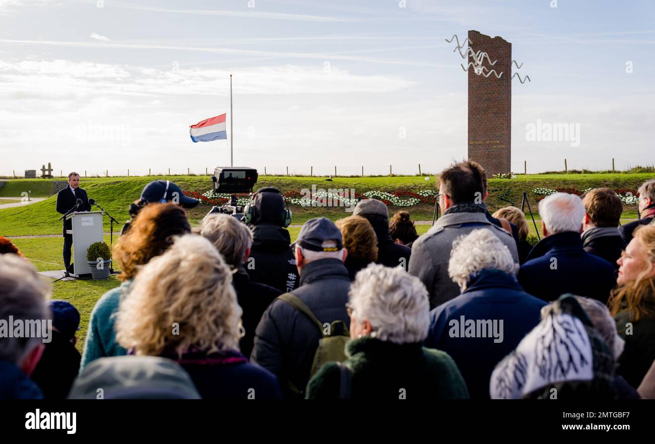
<instances>
[{"instance_id":1,"label":"dark puffer jacket of man in cap wearing olive backpack","mask_svg":"<svg viewBox=\"0 0 655 444\"><path fill-rule=\"evenodd\" d=\"M350 278L339 259L318 259L303 267L300 286L293 291L320 322L336 320L350 327L346 313ZM293 392L288 382L305 390L312 369L321 331L305 314L276 299L264 312L257 331L250 361L274 373L286 396Z\"/></svg>"}]
</instances>

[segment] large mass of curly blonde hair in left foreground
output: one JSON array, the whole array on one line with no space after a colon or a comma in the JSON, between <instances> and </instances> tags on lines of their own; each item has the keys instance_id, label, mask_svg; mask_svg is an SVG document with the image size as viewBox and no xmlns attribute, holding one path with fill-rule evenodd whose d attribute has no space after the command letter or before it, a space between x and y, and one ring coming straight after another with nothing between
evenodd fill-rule
<instances>
[{"instance_id":1,"label":"large mass of curly blonde hair in left foreground","mask_svg":"<svg viewBox=\"0 0 655 444\"><path fill-rule=\"evenodd\" d=\"M231 283L230 268L210 241L176 238L134 279L121 302L116 339L138 355L238 350L242 309Z\"/></svg>"}]
</instances>

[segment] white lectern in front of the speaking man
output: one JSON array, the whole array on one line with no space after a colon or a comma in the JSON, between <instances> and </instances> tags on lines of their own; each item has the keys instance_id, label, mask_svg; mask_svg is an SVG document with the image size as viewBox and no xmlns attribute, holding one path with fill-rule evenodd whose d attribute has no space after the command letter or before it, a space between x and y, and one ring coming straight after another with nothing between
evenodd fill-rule
<instances>
[{"instance_id":1,"label":"white lectern in front of the speaking man","mask_svg":"<svg viewBox=\"0 0 655 444\"><path fill-rule=\"evenodd\" d=\"M86 250L94 242L102 242L102 215L104 212L79 212L70 213L66 220L71 219L72 230L66 230L67 234L73 234L73 273L72 276L79 278L81 274L91 272L91 267L86 261Z\"/></svg>"}]
</instances>

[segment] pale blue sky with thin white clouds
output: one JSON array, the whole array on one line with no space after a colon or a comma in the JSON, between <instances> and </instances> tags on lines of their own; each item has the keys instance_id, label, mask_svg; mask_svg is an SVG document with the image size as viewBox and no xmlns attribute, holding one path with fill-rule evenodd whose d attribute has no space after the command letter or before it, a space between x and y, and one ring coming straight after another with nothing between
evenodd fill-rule
<instances>
[{"instance_id":1,"label":"pale blue sky with thin white clouds","mask_svg":"<svg viewBox=\"0 0 655 444\"><path fill-rule=\"evenodd\" d=\"M648 0L0 0L0 175L229 166L231 141L189 126L227 113L231 138L231 74L234 166L435 173L466 158L445 39L468 29L531 79L512 81L514 171L652 163L654 19ZM576 139L530 136L548 124Z\"/></svg>"}]
</instances>

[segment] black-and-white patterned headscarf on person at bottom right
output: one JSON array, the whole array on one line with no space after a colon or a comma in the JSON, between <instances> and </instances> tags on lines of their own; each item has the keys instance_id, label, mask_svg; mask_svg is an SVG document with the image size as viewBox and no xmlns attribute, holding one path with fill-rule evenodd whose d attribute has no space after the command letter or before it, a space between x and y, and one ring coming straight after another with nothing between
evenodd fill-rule
<instances>
[{"instance_id":1,"label":"black-and-white patterned headscarf on person at bottom right","mask_svg":"<svg viewBox=\"0 0 655 444\"><path fill-rule=\"evenodd\" d=\"M575 297L564 295L496 365L489 390L492 399L613 398L613 380L612 350Z\"/></svg>"}]
</instances>

